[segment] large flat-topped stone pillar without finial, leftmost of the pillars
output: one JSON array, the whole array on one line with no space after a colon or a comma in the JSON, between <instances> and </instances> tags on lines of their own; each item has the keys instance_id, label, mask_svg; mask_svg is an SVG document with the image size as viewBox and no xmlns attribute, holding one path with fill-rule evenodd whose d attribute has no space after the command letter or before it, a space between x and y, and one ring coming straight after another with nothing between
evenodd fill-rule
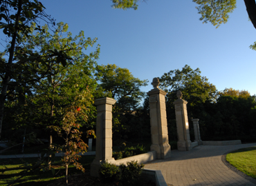
<instances>
[{"instance_id":1,"label":"large flat-topped stone pillar without finial, leftmost of the pillars","mask_svg":"<svg viewBox=\"0 0 256 186\"><path fill-rule=\"evenodd\" d=\"M112 158L112 105L116 100L110 98L96 99L96 156L91 163L91 176L99 176L98 170L101 163L115 161Z\"/></svg>"}]
</instances>

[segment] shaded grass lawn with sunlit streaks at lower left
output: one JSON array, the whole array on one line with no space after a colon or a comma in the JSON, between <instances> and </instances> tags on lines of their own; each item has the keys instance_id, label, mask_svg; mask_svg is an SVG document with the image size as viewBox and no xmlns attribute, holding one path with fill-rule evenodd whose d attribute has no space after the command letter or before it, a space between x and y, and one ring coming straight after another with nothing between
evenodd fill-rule
<instances>
[{"instance_id":1,"label":"shaded grass lawn with sunlit streaks at lower left","mask_svg":"<svg viewBox=\"0 0 256 186\"><path fill-rule=\"evenodd\" d=\"M80 163L82 163L85 169L89 169L91 162L94 158L95 156L82 156L82 158L80 159ZM33 163L37 161L37 158L22 159L28 163ZM19 178L19 176L21 176L21 172L24 170L23 167L20 167L22 164L23 163L20 158L0 159L0 185L8 185L8 183L12 182L12 180ZM43 172L41 170L39 173L31 173L28 174L28 176L21 178L21 180L19 180L19 183L16 183L15 185L48 185L48 183L64 177L65 169L61 165L62 163L60 161L60 157L55 157L55 162L53 163L53 167L55 168L55 175L53 175L51 171ZM6 167L10 170L6 171ZM73 165L70 165L69 167L69 175L82 173L80 170L75 169Z\"/></svg>"}]
</instances>

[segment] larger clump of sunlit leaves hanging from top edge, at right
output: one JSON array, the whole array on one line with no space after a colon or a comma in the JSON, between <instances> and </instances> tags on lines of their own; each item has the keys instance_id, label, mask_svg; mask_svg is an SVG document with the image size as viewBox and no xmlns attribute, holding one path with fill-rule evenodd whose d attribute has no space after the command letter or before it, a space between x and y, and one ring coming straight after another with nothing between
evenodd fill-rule
<instances>
[{"instance_id":1,"label":"larger clump of sunlit leaves hanging from top edge, at right","mask_svg":"<svg viewBox=\"0 0 256 186\"><path fill-rule=\"evenodd\" d=\"M196 7L201 14L200 21L212 23L216 28L221 23L226 23L230 13L236 8L236 0L193 0L199 6Z\"/></svg>"}]
</instances>

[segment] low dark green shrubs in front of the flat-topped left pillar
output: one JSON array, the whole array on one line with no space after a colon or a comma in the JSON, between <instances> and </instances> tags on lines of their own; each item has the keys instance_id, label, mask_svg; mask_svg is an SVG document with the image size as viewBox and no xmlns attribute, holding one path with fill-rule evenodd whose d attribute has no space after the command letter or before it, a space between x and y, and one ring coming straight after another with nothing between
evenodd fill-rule
<instances>
[{"instance_id":1,"label":"low dark green shrubs in front of the flat-topped left pillar","mask_svg":"<svg viewBox=\"0 0 256 186\"><path fill-rule=\"evenodd\" d=\"M119 167L105 162L102 163L99 173L104 183L116 182L120 185L138 185L143 167L144 165L139 165L137 161L127 162L127 165L121 164Z\"/></svg>"}]
</instances>

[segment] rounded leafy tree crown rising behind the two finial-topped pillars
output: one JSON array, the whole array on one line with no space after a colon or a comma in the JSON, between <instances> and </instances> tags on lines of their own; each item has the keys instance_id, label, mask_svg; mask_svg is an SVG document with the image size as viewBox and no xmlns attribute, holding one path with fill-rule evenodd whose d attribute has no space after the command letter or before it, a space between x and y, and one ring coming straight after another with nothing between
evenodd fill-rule
<instances>
[{"instance_id":1,"label":"rounded leafy tree crown rising behind the two finial-topped pillars","mask_svg":"<svg viewBox=\"0 0 256 186\"><path fill-rule=\"evenodd\" d=\"M205 76L201 76L199 68L192 70L185 65L182 70L170 70L159 79L160 87L168 92L168 99L176 100L176 92L181 90L183 99L194 106L205 101L214 102L217 99L217 90Z\"/></svg>"}]
</instances>

